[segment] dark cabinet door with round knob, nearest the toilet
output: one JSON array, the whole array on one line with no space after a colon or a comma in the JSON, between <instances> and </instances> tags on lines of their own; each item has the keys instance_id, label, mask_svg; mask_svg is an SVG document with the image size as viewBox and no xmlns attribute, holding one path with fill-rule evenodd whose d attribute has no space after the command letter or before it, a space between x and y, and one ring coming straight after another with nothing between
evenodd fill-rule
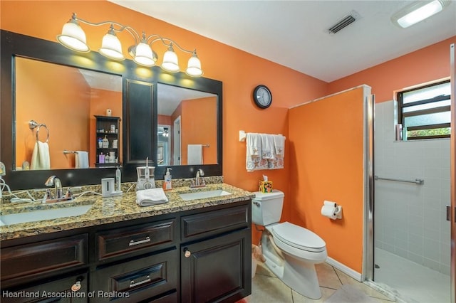
<instances>
[{"instance_id":1,"label":"dark cabinet door with round knob, nearest the toilet","mask_svg":"<svg viewBox=\"0 0 456 303\"><path fill-rule=\"evenodd\" d=\"M181 302L236 302L252 292L251 230L181 246Z\"/></svg>"}]
</instances>

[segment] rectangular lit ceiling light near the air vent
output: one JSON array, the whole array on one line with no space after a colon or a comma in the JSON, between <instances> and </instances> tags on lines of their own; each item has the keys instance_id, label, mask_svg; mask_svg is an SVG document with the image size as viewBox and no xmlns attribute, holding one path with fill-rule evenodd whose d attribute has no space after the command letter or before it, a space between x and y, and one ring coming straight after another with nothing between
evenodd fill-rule
<instances>
[{"instance_id":1,"label":"rectangular lit ceiling light near the air vent","mask_svg":"<svg viewBox=\"0 0 456 303\"><path fill-rule=\"evenodd\" d=\"M391 21L402 28L408 28L439 13L450 2L450 0L416 1L394 14Z\"/></svg>"}]
</instances>

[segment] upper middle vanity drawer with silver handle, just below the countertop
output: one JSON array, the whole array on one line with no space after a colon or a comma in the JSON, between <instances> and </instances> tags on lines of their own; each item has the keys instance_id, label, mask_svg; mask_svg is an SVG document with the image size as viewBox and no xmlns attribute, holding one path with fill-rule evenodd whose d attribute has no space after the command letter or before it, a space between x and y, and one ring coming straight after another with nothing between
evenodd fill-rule
<instances>
[{"instance_id":1,"label":"upper middle vanity drawer with silver handle, just below the countertop","mask_svg":"<svg viewBox=\"0 0 456 303\"><path fill-rule=\"evenodd\" d=\"M176 219L97 233L98 260L105 260L175 240Z\"/></svg>"}]
</instances>

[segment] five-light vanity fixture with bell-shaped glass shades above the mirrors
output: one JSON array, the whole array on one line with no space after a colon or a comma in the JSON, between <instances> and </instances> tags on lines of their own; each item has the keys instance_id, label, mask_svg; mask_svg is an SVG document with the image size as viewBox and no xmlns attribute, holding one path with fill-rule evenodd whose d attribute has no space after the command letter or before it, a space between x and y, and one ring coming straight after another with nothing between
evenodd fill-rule
<instances>
[{"instance_id":1,"label":"five-light vanity fixture with bell-shaped glass shades above the mirrors","mask_svg":"<svg viewBox=\"0 0 456 303\"><path fill-rule=\"evenodd\" d=\"M90 26L103 26L106 24L110 25L108 33L103 36L103 41L101 42L101 48L99 51L100 55L104 55L106 58L112 60L125 60L125 55L122 52L122 45L119 38L116 36L116 33L122 31L127 31L135 39L135 44L128 48L128 53L133 58L133 61L138 65L142 66L154 66L157 62L158 56L154 50L152 50L152 43L161 41L163 45L167 47L165 55L163 55L163 62L160 66L162 70L166 70L170 73L177 73L179 68L179 60L177 54L174 51L174 47L179 48L184 53L190 53L191 57L187 63L187 70L185 73L191 77L201 77L201 61L197 56L196 49L186 50L173 41L170 38L163 38L160 35L152 34L146 36L144 32L142 35L138 35L135 29L130 26L124 26L115 21L103 21L100 23L93 23L90 21L83 20L78 18L75 13L71 16L71 19L63 25L61 35L57 36L57 41L61 43L66 48L75 50L82 53L88 53L90 48L86 42L86 33L79 25L79 22L88 24Z\"/></svg>"}]
</instances>

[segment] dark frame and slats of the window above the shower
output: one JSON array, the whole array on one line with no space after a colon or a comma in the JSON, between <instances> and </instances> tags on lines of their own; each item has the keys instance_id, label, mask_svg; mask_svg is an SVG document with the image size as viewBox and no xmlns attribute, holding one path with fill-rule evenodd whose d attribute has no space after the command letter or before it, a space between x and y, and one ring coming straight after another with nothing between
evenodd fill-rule
<instances>
[{"instance_id":1,"label":"dark frame and slats of the window above the shower","mask_svg":"<svg viewBox=\"0 0 456 303\"><path fill-rule=\"evenodd\" d=\"M445 80L440 80L435 83L430 83L427 85L420 85L416 86L413 88L410 88L408 90L401 90L400 92L396 93L396 100L398 101L398 123L402 124L403 127L405 127L405 118L406 117L413 117L413 116L419 116L419 115L427 115L427 114L435 114L439 112L451 112L451 106L450 105L444 105L440 107L432 107L429 109L425 110L415 110L415 111L410 111L410 112L403 112L404 108L407 107L412 107L416 105L423 105L423 104L430 104L433 102L440 102L440 101L445 101L445 100L450 100L451 95L437 95L435 97L432 97L430 99L424 99L424 100L418 100L414 102L408 102L404 104L403 102L403 95L407 92L413 92L415 90L423 90L423 88L427 87L433 87L437 85L441 85L444 83L450 83L450 79L445 79ZM405 132L407 131L413 131L413 130L420 130L420 129L439 129L439 128L445 128L445 127L451 127L451 123L439 123L439 124L427 124L427 125L418 125L418 126L413 126L413 127L407 127ZM407 137L407 141L410 140L420 140L420 139L440 139L440 138L450 138L450 134L437 134L437 135L432 135L432 136L420 136L420 137Z\"/></svg>"}]
</instances>

